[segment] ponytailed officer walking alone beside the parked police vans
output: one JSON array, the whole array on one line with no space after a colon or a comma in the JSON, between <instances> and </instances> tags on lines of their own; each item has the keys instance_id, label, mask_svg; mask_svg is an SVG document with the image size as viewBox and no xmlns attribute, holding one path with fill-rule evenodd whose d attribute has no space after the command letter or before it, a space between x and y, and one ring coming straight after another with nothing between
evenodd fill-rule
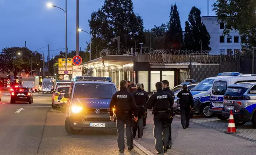
<instances>
[{"instance_id":1,"label":"ponytailed officer walking alone beside the parked police vans","mask_svg":"<svg viewBox=\"0 0 256 155\"><path fill-rule=\"evenodd\" d=\"M183 129L189 127L190 110L194 108L194 99L186 84L182 85L182 90L177 95L180 98L180 117Z\"/></svg>"}]
</instances>

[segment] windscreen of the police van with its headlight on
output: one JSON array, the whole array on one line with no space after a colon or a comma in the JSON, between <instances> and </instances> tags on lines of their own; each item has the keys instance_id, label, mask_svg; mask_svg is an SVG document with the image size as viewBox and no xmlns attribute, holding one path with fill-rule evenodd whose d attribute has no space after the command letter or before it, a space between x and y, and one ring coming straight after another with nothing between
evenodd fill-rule
<instances>
[{"instance_id":1,"label":"windscreen of the police van with its headlight on","mask_svg":"<svg viewBox=\"0 0 256 155\"><path fill-rule=\"evenodd\" d=\"M74 98L108 98L111 99L116 93L112 84L102 83L77 83Z\"/></svg>"}]
</instances>

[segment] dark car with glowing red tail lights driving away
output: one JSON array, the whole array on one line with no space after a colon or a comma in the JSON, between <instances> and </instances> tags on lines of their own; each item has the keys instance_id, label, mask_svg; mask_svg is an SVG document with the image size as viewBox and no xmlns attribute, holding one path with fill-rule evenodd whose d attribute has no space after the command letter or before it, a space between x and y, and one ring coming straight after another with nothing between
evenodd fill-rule
<instances>
[{"instance_id":1,"label":"dark car with glowing red tail lights driving away","mask_svg":"<svg viewBox=\"0 0 256 155\"><path fill-rule=\"evenodd\" d=\"M15 102L28 102L29 104L33 103L33 94L32 91L27 87L16 87L11 93L11 101L13 104Z\"/></svg>"}]
</instances>

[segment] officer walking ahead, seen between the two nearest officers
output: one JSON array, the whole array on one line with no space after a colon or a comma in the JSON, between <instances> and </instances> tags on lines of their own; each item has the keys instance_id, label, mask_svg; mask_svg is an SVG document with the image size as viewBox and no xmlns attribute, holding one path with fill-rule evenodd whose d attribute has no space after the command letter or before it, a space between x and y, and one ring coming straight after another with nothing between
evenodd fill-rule
<instances>
[{"instance_id":1,"label":"officer walking ahead, seen between the two nearest officers","mask_svg":"<svg viewBox=\"0 0 256 155\"><path fill-rule=\"evenodd\" d=\"M146 102L148 100L148 95L144 91L142 91L142 85L140 83L137 83L136 85L137 90L132 93L135 99L135 103L137 105L137 111L138 111L138 121L134 121L132 129L133 129L133 138L136 136L136 131L138 129L138 138L142 138L143 136L143 119L145 117L146 112Z\"/></svg>"}]
</instances>

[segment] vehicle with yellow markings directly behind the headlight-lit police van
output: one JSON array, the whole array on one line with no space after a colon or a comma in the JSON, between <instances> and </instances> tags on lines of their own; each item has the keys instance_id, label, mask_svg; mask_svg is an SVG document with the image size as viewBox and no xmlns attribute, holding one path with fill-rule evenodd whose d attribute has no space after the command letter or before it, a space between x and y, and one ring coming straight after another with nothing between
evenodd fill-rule
<instances>
[{"instance_id":1,"label":"vehicle with yellow markings directly behind the headlight-lit police van","mask_svg":"<svg viewBox=\"0 0 256 155\"><path fill-rule=\"evenodd\" d=\"M64 106L67 103L67 98L64 97L65 93L68 93L70 85L58 85L57 89L52 94L52 108L57 106Z\"/></svg>"}]
</instances>

